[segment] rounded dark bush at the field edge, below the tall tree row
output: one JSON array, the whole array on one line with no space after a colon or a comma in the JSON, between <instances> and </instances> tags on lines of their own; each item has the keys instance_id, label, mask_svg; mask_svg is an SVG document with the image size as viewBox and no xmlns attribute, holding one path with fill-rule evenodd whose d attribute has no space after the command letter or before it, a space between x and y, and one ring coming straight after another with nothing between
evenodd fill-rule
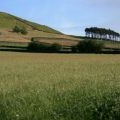
<instances>
[{"instance_id":1,"label":"rounded dark bush at the field edge, below the tall tree row","mask_svg":"<svg viewBox=\"0 0 120 120\"><path fill-rule=\"evenodd\" d=\"M76 46L78 52L81 53L100 53L104 48L104 44L93 40L84 40Z\"/></svg>"}]
</instances>

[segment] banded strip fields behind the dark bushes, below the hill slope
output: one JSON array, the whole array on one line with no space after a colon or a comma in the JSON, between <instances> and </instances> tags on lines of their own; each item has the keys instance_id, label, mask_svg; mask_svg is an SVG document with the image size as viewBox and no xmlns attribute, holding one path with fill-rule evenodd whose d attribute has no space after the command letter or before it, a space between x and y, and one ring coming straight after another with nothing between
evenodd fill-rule
<instances>
[{"instance_id":1,"label":"banded strip fields behind the dark bushes, below the hill slope","mask_svg":"<svg viewBox=\"0 0 120 120\"><path fill-rule=\"evenodd\" d=\"M42 34L43 35L43 34ZM85 39L76 39L76 38L71 38L69 36L65 35L56 35L50 34L50 36L46 35L41 37L35 37L34 40L39 41L42 44L60 44L62 46L61 52L72 52L72 46L77 45L80 41L83 41ZM16 37L16 36L14 36ZM27 37L27 36L26 36ZM12 37L11 37L12 38ZM8 39L11 39L8 37ZM31 36L32 38L32 36ZM0 51L27 51L27 46L30 40L19 40L15 38L15 40L4 40L0 39ZM29 38L30 39L30 38ZM96 40L94 40L96 41ZM119 54L120 53L120 42L115 42L115 41L105 41L105 40L97 40L98 42L102 42L104 44L104 49L102 50L103 53L110 53L110 54Z\"/></svg>"}]
</instances>

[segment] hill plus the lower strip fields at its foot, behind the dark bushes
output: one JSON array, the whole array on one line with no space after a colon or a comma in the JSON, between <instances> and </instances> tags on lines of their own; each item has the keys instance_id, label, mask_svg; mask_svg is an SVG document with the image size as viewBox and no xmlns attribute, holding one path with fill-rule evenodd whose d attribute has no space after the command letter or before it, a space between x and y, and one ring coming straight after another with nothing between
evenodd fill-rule
<instances>
[{"instance_id":1,"label":"hill plus the lower strip fields at its foot, behind the dark bushes","mask_svg":"<svg viewBox=\"0 0 120 120\"><path fill-rule=\"evenodd\" d=\"M22 35L20 33L12 32L13 27L16 25L19 27L25 27L28 34ZM76 45L81 40L85 40L85 37L65 35L48 26L40 25L8 13L0 12L0 49L1 46L26 46L30 42L31 38L37 38L37 40L42 43L58 43L67 47ZM104 40L97 41L104 42L105 49L120 50L120 42Z\"/></svg>"}]
</instances>

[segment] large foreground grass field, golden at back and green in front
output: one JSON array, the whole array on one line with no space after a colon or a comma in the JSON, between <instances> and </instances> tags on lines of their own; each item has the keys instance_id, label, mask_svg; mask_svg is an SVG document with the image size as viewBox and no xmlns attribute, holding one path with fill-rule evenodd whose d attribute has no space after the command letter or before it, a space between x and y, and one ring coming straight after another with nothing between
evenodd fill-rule
<instances>
[{"instance_id":1,"label":"large foreground grass field, golden at back and green in front","mask_svg":"<svg viewBox=\"0 0 120 120\"><path fill-rule=\"evenodd\" d=\"M0 120L119 118L119 55L0 52Z\"/></svg>"}]
</instances>

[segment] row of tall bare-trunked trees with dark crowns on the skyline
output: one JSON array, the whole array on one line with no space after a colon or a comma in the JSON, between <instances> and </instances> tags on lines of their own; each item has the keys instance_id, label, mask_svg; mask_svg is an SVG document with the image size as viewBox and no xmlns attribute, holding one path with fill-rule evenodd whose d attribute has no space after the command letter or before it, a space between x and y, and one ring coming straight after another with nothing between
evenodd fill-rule
<instances>
[{"instance_id":1,"label":"row of tall bare-trunked trees with dark crowns on the skyline","mask_svg":"<svg viewBox=\"0 0 120 120\"><path fill-rule=\"evenodd\" d=\"M111 29L91 27L85 29L86 37L106 39L106 40L120 40L120 34Z\"/></svg>"}]
</instances>

